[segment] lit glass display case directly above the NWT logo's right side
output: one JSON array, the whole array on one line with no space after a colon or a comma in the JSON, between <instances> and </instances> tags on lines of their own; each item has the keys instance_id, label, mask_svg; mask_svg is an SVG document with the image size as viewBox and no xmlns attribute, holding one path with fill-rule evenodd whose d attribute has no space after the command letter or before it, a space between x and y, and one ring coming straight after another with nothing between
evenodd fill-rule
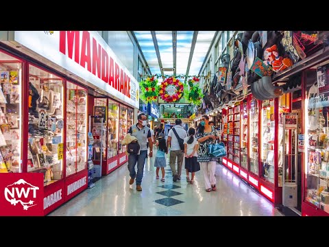
<instances>
[{"instance_id":1,"label":"lit glass display case directly above the NWT logo's right side","mask_svg":"<svg viewBox=\"0 0 329 247\"><path fill-rule=\"evenodd\" d=\"M27 171L42 172L45 185L63 178L63 95L62 78L29 64Z\"/></svg>"}]
</instances>

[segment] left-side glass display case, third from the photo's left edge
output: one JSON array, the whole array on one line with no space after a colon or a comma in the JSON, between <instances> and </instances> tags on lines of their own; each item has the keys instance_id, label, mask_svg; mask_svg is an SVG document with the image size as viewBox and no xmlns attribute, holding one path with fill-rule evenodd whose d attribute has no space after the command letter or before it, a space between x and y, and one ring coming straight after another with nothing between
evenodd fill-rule
<instances>
[{"instance_id":1,"label":"left-side glass display case, third from the photo's left edge","mask_svg":"<svg viewBox=\"0 0 329 247\"><path fill-rule=\"evenodd\" d=\"M66 176L86 169L87 91L66 83Z\"/></svg>"}]
</instances>

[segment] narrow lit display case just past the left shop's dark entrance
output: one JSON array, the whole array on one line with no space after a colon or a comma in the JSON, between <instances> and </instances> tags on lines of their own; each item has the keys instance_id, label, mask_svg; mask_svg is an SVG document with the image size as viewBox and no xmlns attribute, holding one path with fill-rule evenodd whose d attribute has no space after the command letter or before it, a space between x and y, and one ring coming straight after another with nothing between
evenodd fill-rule
<instances>
[{"instance_id":1,"label":"narrow lit display case just past the left shop's dark entrance","mask_svg":"<svg viewBox=\"0 0 329 247\"><path fill-rule=\"evenodd\" d=\"M108 158L118 154L119 103L108 99Z\"/></svg>"}]
</instances>

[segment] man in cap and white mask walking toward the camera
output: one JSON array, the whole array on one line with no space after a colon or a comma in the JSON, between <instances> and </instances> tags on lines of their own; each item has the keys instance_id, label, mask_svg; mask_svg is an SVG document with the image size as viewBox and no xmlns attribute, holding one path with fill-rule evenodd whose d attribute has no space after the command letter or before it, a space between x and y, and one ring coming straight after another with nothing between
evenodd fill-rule
<instances>
[{"instance_id":1,"label":"man in cap and white mask walking toward the camera","mask_svg":"<svg viewBox=\"0 0 329 247\"><path fill-rule=\"evenodd\" d=\"M136 137L139 145L141 146L140 154L129 154L128 156L128 169L130 173L129 184L132 185L136 178L136 190L141 191L141 183L143 178L144 164L147 157L147 140L149 141L149 156L153 156L153 142L151 137L151 131L146 126L147 117L144 113L141 113L137 117L138 123L131 126L128 130L132 136ZM137 174L135 166L137 163Z\"/></svg>"}]
</instances>

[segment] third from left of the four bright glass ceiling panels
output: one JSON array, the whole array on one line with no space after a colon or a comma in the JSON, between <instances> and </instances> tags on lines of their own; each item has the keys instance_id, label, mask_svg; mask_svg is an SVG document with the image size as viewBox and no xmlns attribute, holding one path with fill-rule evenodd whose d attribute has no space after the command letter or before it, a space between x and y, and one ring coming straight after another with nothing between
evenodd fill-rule
<instances>
[{"instance_id":1,"label":"third from left of the four bright glass ceiling panels","mask_svg":"<svg viewBox=\"0 0 329 247\"><path fill-rule=\"evenodd\" d=\"M191 45L194 31L177 32L177 55L176 55L176 74L184 75L186 73L188 58L190 57Z\"/></svg>"}]
</instances>

